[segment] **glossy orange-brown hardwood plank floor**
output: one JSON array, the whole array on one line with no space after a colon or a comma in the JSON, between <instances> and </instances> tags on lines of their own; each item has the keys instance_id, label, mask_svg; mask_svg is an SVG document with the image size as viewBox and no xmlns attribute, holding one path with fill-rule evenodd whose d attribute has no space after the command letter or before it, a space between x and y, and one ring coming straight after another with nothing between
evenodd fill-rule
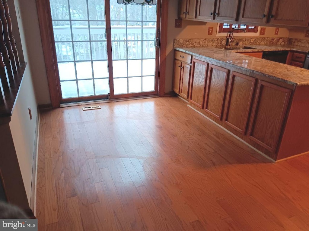
<instances>
[{"instance_id":1,"label":"glossy orange-brown hardwood plank floor","mask_svg":"<svg viewBox=\"0 0 309 231\"><path fill-rule=\"evenodd\" d=\"M309 156L270 163L174 97L42 111L43 230L309 230Z\"/></svg>"}]
</instances>

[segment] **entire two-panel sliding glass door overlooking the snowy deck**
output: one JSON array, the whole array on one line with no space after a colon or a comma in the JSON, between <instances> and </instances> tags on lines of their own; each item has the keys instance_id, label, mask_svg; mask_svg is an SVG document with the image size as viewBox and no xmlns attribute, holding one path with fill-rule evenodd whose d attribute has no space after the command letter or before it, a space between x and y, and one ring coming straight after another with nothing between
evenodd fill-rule
<instances>
[{"instance_id":1,"label":"entire two-panel sliding glass door overlooking the snowy deck","mask_svg":"<svg viewBox=\"0 0 309 231\"><path fill-rule=\"evenodd\" d=\"M50 0L50 6L62 102L157 94L156 5Z\"/></svg>"}]
</instances>

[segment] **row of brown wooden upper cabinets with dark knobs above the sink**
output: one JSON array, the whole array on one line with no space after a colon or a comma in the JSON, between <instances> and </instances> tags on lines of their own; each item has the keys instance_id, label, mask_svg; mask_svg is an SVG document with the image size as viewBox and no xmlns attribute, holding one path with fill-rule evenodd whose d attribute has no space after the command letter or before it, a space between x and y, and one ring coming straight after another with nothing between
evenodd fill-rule
<instances>
[{"instance_id":1,"label":"row of brown wooden upper cabinets with dark knobs above the sink","mask_svg":"<svg viewBox=\"0 0 309 231\"><path fill-rule=\"evenodd\" d=\"M309 25L308 0L180 0L179 17L264 26Z\"/></svg>"}]
</instances>

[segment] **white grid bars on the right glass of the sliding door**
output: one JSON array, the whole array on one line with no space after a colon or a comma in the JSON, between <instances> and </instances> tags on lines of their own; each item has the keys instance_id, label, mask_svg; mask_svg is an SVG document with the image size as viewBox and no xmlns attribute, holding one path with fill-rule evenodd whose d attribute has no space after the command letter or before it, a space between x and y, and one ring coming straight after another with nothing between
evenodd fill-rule
<instances>
[{"instance_id":1,"label":"white grid bars on the right glass of the sliding door","mask_svg":"<svg viewBox=\"0 0 309 231\"><path fill-rule=\"evenodd\" d=\"M137 6L135 6L137 7ZM113 20L111 19L111 25L112 25L112 22L125 22L125 33L126 33L126 40L115 40L113 37L112 37L112 43L114 42L125 42L126 43L126 58L124 59L115 59L114 57L112 58L113 61L126 61L126 67L127 67L127 76L121 76L121 77L115 77L113 76L113 79L126 79L127 81L127 92L126 93L133 93L133 92L130 92L129 91L129 79L131 78L137 78L137 77L140 77L141 78L141 91L137 91L137 92L145 92L143 90L143 77L153 77L153 80L154 80L154 89L153 90L150 90L150 91L154 91L155 90L155 72L153 73L153 75L143 75L143 60L151 60L151 59L154 59L155 60L155 57L153 58L143 58L144 54L143 54L143 49L144 49L144 44L143 42L153 42L155 44L155 40L150 40L150 39L144 39L144 36L143 36L143 27L144 27L144 22L152 22L152 23L156 23L156 21L151 21L151 20L145 20L144 21L144 18L143 18L143 6L141 7L141 20L128 20L128 8L127 8L127 5L125 5L125 19L126 20ZM156 15L156 14L155 14ZM111 16L112 17L112 16ZM141 39L132 39L132 40L129 40L128 38L128 22L140 22L141 23ZM156 24L155 24L156 25ZM156 29L155 29L155 36L154 36L154 39L156 39ZM118 38L118 36L117 36ZM141 58L140 59L129 59L129 53L128 53L128 42L130 43L133 43L133 42L141 42ZM138 46L138 44L137 44ZM113 55L114 56L114 55ZM129 76L129 60L141 60L141 75L140 76ZM113 63L114 65L114 63ZM149 91L149 90L146 90L146 91ZM115 93L117 94L117 93ZM125 94L125 92L123 93L118 93L118 94Z\"/></svg>"}]
</instances>

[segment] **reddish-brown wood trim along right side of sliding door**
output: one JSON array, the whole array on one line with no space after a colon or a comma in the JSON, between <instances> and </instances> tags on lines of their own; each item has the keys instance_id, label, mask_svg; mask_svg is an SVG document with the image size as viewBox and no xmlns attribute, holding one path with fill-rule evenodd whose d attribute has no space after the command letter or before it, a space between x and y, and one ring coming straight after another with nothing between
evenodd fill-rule
<instances>
[{"instance_id":1,"label":"reddish-brown wood trim along right side of sliding door","mask_svg":"<svg viewBox=\"0 0 309 231\"><path fill-rule=\"evenodd\" d=\"M159 57L159 96L165 94L165 70L166 70L166 45L167 45L167 18L168 2L161 1L161 32L160 32L160 57Z\"/></svg>"}]
</instances>

